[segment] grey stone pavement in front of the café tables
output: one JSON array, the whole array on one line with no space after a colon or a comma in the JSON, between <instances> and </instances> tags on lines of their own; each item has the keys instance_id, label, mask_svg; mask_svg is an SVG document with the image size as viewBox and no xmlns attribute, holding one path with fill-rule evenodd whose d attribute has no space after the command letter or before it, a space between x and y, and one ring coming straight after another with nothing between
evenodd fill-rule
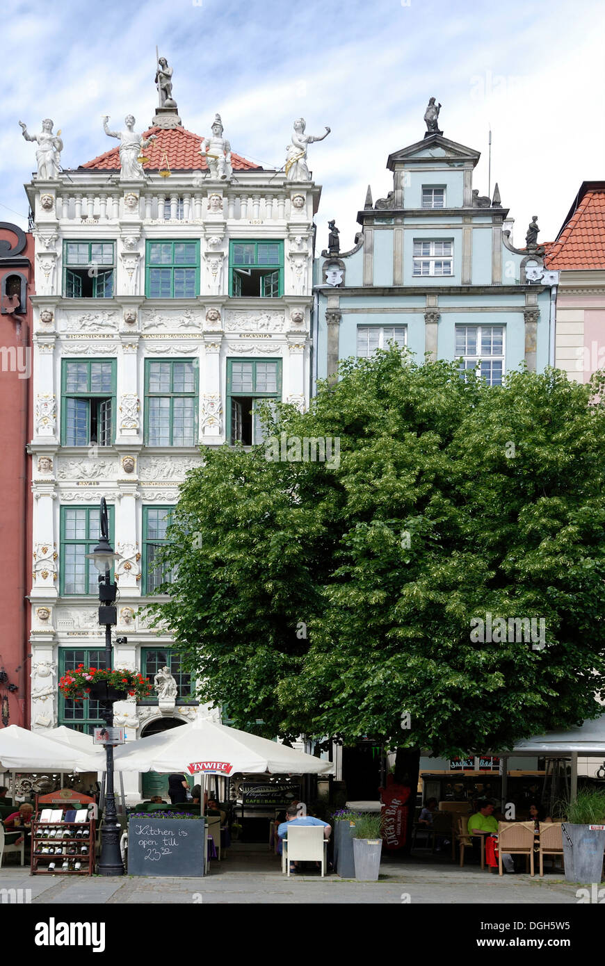
<instances>
[{"instance_id":1,"label":"grey stone pavement in front of the caf\u00e9 tables","mask_svg":"<svg viewBox=\"0 0 605 966\"><path fill-rule=\"evenodd\" d=\"M544 879L526 874L500 877L477 867L418 859L395 861L389 856L378 882L356 882L328 875L281 874L273 856L251 853L213 863L205 878L163 878L125 875L30 876L27 867L0 869L0 888L30 889L33 904L576 904L574 883L559 871Z\"/></svg>"}]
</instances>

